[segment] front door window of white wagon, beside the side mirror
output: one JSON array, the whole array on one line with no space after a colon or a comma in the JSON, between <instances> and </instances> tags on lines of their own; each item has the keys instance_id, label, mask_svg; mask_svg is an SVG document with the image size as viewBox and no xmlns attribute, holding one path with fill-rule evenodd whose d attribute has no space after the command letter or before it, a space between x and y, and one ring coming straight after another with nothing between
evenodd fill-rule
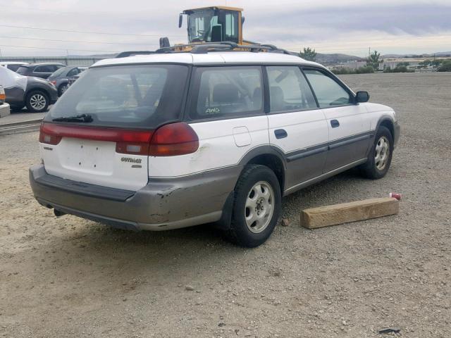
<instances>
[{"instance_id":1,"label":"front door window of white wagon, beside the side mirror","mask_svg":"<svg viewBox=\"0 0 451 338\"><path fill-rule=\"evenodd\" d=\"M314 69L305 69L304 73L313 88L321 108L352 103L350 93L332 77Z\"/></svg>"}]
</instances>

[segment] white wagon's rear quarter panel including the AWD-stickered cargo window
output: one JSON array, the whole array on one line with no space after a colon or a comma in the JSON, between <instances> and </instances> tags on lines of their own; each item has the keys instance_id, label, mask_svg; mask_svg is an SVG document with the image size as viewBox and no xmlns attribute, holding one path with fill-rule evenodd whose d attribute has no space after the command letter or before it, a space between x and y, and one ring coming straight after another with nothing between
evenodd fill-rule
<instances>
[{"instance_id":1,"label":"white wagon's rear quarter panel including the AWD-stickered cargo window","mask_svg":"<svg viewBox=\"0 0 451 338\"><path fill-rule=\"evenodd\" d=\"M167 176L237 165L249 149L268 144L261 66L197 67L193 72L187 120L199 137L199 150L183 163L173 156L175 162L164 168Z\"/></svg>"}]
</instances>

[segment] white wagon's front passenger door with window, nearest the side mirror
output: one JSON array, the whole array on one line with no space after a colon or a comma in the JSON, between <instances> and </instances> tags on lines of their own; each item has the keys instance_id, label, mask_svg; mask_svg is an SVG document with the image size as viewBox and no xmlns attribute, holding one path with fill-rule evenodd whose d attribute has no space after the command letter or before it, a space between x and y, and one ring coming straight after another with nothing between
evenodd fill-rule
<instances>
[{"instance_id":1,"label":"white wagon's front passenger door with window, nearest the side mirror","mask_svg":"<svg viewBox=\"0 0 451 338\"><path fill-rule=\"evenodd\" d=\"M329 151L324 171L365 158L370 142L366 108L354 104L354 94L327 70L304 68L304 73L327 119Z\"/></svg>"}]
</instances>

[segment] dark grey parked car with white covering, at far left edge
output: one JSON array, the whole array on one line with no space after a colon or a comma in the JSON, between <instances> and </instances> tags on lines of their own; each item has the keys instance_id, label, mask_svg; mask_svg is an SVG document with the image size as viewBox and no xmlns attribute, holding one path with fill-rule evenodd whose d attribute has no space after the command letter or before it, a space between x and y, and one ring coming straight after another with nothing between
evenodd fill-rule
<instances>
[{"instance_id":1,"label":"dark grey parked car with white covering, at far left edge","mask_svg":"<svg viewBox=\"0 0 451 338\"><path fill-rule=\"evenodd\" d=\"M23 76L4 67L0 67L0 84L5 90L6 103L13 110L27 106L32 113L42 113L58 99L56 87L47 80Z\"/></svg>"}]
</instances>

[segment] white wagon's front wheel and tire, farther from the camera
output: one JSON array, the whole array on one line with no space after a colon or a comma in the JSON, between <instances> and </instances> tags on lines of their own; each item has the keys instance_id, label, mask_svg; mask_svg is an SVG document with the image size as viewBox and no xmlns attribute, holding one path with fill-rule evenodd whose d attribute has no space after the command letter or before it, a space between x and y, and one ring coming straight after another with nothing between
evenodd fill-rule
<instances>
[{"instance_id":1,"label":"white wagon's front wheel and tire, farther from the camera","mask_svg":"<svg viewBox=\"0 0 451 338\"><path fill-rule=\"evenodd\" d=\"M378 180L384 177L393 156L393 136L387 127L381 125L376 132L374 144L369 152L368 161L360 167L360 171L364 177L371 180Z\"/></svg>"}]
</instances>

